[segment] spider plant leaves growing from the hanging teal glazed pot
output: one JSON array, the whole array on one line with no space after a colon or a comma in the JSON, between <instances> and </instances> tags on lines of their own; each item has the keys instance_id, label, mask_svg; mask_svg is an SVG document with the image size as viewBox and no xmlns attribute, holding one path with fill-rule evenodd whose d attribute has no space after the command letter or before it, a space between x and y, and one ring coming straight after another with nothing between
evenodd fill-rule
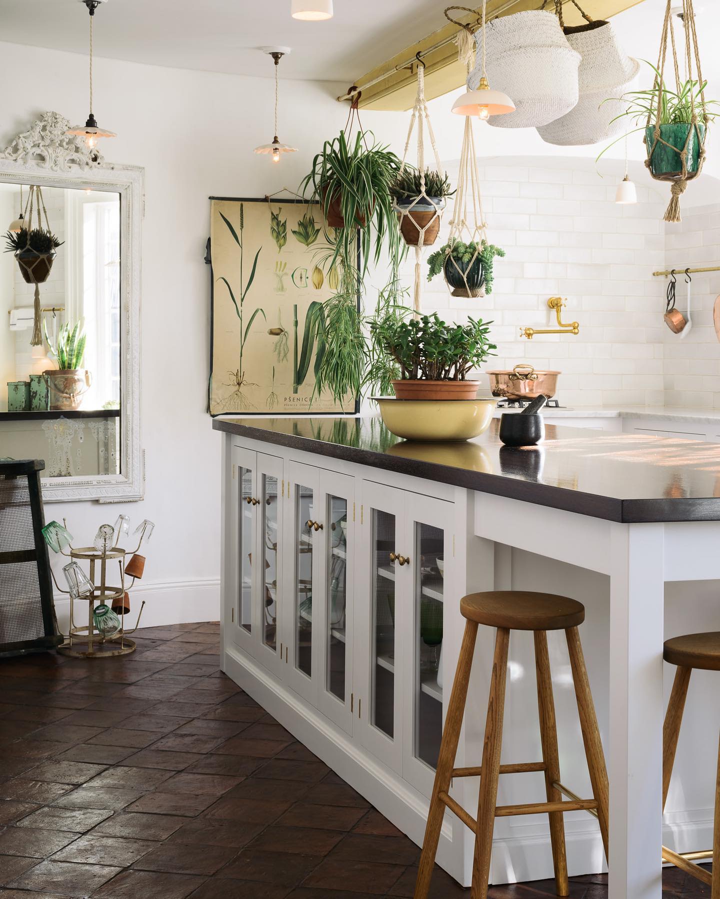
<instances>
[{"instance_id":1,"label":"spider plant leaves growing from the hanging teal glazed pot","mask_svg":"<svg viewBox=\"0 0 720 899\"><path fill-rule=\"evenodd\" d=\"M650 125L653 127L655 123L660 125L690 125L692 124L693 102L695 105L695 114L698 117L698 125L705 126L708 122L716 120L717 111L713 108L717 106L716 100L705 101L705 111L703 111L700 99L705 94L707 80L700 84L692 79L686 80L677 85L676 90L672 90L668 86L668 81L663 77L652 62L647 59L643 60L646 65L653 69L653 86L643 91L628 91L620 97L620 102L626 104L626 109L619 112L611 122L627 118L635 124L635 128L627 131L625 134L616 138L608 147L605 147L596 158L598 162L601 156L604 156L610 147L614 147L619 141L625 140L631 134L643 131ZM604 100L603 103L617 102L614 97ZM601 104L602 105L602 104ZM658 106L660 108L660 116L658 116Z\"/></svg>"}]
</instances>

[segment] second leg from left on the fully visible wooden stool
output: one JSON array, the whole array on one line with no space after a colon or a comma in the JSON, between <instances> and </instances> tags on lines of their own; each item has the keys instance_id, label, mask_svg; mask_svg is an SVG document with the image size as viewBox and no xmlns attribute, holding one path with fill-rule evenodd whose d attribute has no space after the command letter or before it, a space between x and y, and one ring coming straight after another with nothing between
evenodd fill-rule
<instances>
[{"instance_id":1,"label":"second leg from left on the fully visible wooden stool","mask_svg":"<svg viewBox=\"0 0 720 899\"><path fill-rule=\"evenodd\" d=\"M492 832L495 827L495 806L498 802L502 717L505 710L509 642L509 629L498 628L498 636L495 638L495 656L492 660L485 741L482 746L482 777L480 779L480 796L478 797L478 829L475 833L472 899L487 899L488 895Z\"/></svg>"}]
</instances>

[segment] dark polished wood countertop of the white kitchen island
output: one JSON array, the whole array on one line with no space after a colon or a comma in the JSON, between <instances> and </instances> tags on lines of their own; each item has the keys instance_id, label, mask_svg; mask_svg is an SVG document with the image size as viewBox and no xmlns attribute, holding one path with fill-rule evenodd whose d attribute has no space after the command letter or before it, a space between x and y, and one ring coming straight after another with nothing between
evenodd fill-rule
<instances>
[{"instance_id":1,"label":"dark polished wood countertop of the white kitchen island","mask_svg":"<svg viewBox=\"0 0 720 899\"><path fill-rule=\"evenodd\" d=\"M216 418L216 431L608 521L720 521L720 443L545 424L509 449L499 421L473 441L401 441L380 418Z\"/></svg>"}]
</instances>

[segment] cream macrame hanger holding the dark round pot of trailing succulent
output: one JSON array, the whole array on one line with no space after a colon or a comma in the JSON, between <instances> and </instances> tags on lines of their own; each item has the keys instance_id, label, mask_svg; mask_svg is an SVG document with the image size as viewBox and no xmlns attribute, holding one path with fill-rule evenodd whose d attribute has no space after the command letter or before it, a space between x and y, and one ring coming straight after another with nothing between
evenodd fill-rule
<instances>
[{"instance_id":1,"label":"cream macrame hanger holding the dark round pot of trailing succulent","mask_svg":"<svg viewBox=\"0 0 720 899\"><path fill-rule=\"evenodd\" d=\"M464 7L448 7L448 9L464 9ZM473 12L473 10L469 10ZM447 14L447 10L446 10ZM454 21L454 20L451 20ZM485 56L485 0L482 3L482 56L484 73ZM468 74L474 66L473 30L463 25L455 39L458 58L464 62ZM453 288L453 297L483 297L484 287L480 284L479 269L482 267L482 245L487 242L488 225L482 211L480 193L480 173L475 153L475 137L473 134L473 116L465 116L463 147L460 151L460 165L457 174L455 206L453 218L450 219L450 234L447 238L447 251L443 271L446 282ZM464 240L464 238L467 238ZM462 263L453 256L453 248L458 243L475 243L477 249L467 261Z\"/></svg>"}]
</instances>

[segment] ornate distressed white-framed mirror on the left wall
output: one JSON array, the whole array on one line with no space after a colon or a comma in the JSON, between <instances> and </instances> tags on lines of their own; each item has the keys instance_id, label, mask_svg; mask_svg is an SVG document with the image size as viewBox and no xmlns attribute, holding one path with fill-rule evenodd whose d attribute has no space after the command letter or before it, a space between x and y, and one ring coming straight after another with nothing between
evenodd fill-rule
<instances>
[{"instance_id":1,"label":"ornate distressed white-framed mirror on the left wall","mask_svg":"<svg viewBox=\"0 0 720 899\"><path fill-rule=\"evenodd\" d=\"M0 152L0 458L44 459L46 502L137 500L143 170L68 128Z\"/></svg>"}]
</instances>

